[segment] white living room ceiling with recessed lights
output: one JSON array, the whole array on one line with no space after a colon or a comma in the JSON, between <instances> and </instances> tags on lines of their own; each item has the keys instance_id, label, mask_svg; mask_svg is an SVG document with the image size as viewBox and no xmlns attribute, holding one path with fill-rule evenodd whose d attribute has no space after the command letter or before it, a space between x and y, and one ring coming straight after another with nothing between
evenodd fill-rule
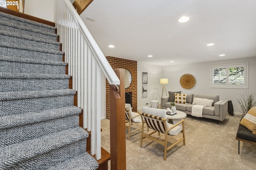
<instances>
[{"instance_id":1,"label":"white living room ceiling with recessed lights","mask_svg":"<svg viewBox=\"0 0 256 170\"><path fill-rule=\"evenodd\" d=\"M256 57L256 0L93 0L80 16L105 56L159 66Z\"/></svg>"}]
</instances>

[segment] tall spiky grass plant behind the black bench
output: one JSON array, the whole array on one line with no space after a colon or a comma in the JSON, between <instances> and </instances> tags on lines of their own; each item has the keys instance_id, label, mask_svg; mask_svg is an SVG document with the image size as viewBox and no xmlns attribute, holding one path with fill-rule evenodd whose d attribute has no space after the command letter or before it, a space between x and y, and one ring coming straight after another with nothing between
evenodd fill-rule
<instances>
[{"instance_id":1,"label":"tall spiky grass plant behind the black bench","mask_svg":"<svg viewBox=\"0 0 256 170\"><path fill-rule=\"evenodd\" d=\"M242 117L246 115L250 108L256 106L255 93L240 94L239 98L236 98L237 103L240 105Z\"/></svg>"}]
</instances>

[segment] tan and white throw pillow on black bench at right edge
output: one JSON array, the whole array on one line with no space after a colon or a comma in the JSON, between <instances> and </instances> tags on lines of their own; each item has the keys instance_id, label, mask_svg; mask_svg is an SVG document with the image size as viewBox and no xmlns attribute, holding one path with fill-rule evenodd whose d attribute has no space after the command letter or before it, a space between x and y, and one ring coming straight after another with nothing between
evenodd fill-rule
<instances>
[{"instance_id":1,"label":"tan and white throw pillow on black bench at right edge","mask_svg":"<svg viewBox=\"0 0 256 170\"><path fill-rule=\"evenodd\" d=\"M241 119L240 124L252 131L252 134L256 134L256 107L250 108Z\"/></svg>"}]
</instances>

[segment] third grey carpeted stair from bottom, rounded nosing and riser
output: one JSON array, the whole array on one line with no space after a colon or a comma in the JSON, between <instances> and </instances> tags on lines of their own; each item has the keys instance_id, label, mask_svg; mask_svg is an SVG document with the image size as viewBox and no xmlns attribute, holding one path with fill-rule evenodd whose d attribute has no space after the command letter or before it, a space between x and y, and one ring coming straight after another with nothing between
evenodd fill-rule
<instances>
[{"instance_id":1,"label":"third grey carpeted stair from bottom, rounded nosing and riser","mask_svg":"<svg viewBox=\"0 0 256 170\"><path fill-rule=\"evenodd\" d=\"M80 113L79 107L70 106L0 116L0 147L77 127Z\"/></svg>"}]
</instances>

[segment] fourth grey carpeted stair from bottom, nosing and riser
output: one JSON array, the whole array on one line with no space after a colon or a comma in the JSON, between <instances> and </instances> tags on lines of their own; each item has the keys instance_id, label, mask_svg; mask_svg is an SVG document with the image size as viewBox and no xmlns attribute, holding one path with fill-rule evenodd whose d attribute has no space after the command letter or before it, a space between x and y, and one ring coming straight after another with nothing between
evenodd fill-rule
<instances>
[{"instance_id":1,"label":"fourth grey carpeted stair from bottom, nosing and riser","mask_svg":"<svg viewBox=\"0 0 256 170\"><path fill-rule=\"evenodd\" d=\"M0 92L0 115L73 106L75 93L72 89Z\"/></svg>"}]
</instances>

